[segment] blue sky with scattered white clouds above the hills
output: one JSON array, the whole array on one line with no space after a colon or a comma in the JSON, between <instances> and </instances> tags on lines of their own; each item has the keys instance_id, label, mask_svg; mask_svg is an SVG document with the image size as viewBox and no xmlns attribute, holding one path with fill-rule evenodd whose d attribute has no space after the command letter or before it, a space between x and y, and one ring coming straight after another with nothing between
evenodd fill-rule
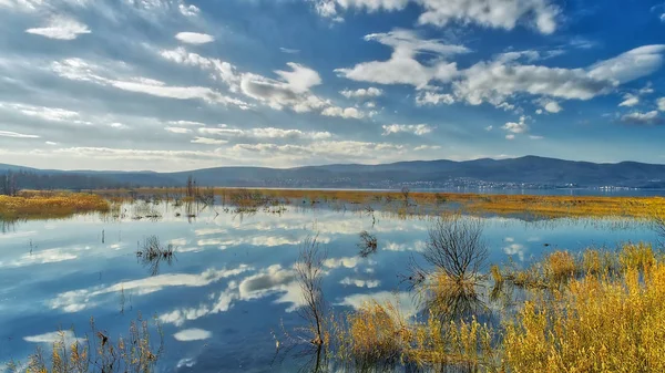
<instances>
[{"instance_id":1,"label":"blue sky with scattered white clouds above the hills","mask_svg":"<svg viewBox=\"0 0 665 373\"><path fill-rule=\"evenodd\" d=\"M0 0L0 163L665 164L663 0Z\"/></svg>"}]
</instances>

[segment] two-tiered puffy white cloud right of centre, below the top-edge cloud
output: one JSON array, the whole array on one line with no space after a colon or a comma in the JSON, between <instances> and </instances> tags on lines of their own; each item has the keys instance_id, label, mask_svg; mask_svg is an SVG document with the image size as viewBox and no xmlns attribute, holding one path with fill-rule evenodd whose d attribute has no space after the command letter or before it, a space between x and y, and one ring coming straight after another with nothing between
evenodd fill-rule
<instances>
[{"instance_id":1,"label":"two-tiered puffy white cloud right of centre, below the top-edge cloud","mask_svg":"<svg viewBox=\"0 0 665 373\"><path fill-rule=\"evenodd\" d=\"M457 64L434 59L432 63L423 65L416 59L417 55L428 53L447 56L469 52L466 46L443 44L440 40L422 40L415 32L400 29L369 34L365 40L391 46L392 55L388 61L364 62L351 69L336 69L338 75L361 82L408 84L422 89L432 80L449 82L458 73Z\"/></svg>"}]
</instances>

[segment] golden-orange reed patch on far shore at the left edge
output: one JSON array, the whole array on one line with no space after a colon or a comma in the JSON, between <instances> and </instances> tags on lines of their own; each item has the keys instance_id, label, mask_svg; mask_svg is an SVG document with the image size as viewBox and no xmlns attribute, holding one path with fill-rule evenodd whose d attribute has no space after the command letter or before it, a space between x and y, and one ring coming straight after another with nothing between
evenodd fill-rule
<instances>
[{"instance_id":1,"label":"golden-orange reed patch on far shore at the left edge","mask_svg":"<svg viewBox=\"0 0 665 373\"><path fill-rule=\"evenodd\" d=\"M91 194L22 191L13 197L0 196L0 219L3 220L61 218L109 209L104 198Z\"/></svg>"}]
</instances>

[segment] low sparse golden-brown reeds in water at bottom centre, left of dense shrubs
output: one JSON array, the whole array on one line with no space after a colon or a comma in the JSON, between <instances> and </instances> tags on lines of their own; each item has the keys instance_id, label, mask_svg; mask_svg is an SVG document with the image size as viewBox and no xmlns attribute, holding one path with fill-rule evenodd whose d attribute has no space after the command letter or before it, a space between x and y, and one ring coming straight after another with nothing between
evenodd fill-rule
<instances>
[{"instance_id":1,"label":"low sparse golden-brown reeds in water at bottom centre, left of dense shrubs","mask_svg":"<svg viewBox=\"0 0 665 373\"><path fill-rule=\"evenodd\" d=\"M393 302L370 301L348 313L336 332L337 358L356 371L388 371L398 365L436 372L495 371L493 331L475 319L441 321L430 314L416 322Z\"/></svg>"}]
</instances>

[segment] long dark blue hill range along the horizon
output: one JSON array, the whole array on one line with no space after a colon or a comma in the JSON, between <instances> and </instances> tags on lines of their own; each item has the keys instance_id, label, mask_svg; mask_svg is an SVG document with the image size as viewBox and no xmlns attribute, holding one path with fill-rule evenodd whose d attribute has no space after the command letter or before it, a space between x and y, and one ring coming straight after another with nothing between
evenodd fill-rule
<instances>
[{"instance_id":1,"label":"long dark blue hill range along the horizon","mask_svg":"<svg viewBox=\"0 0 665 373\"><path fill-rule=\"evenodd\" d=\"M38 175L70 188L183 186L193 176L202 186L319 188L446 187L632 187L664 188L665 165L622 162L596 164L536 156L511 159L416 160L382 165L326 165L296 168L217 167L180 173L47 170L0 164L0 174ZM39 178L39 177L38 177ZM30 184L30 183L28 183ZM30 188L30 185L21 185Z\"/></svg>"}]
</instances>

